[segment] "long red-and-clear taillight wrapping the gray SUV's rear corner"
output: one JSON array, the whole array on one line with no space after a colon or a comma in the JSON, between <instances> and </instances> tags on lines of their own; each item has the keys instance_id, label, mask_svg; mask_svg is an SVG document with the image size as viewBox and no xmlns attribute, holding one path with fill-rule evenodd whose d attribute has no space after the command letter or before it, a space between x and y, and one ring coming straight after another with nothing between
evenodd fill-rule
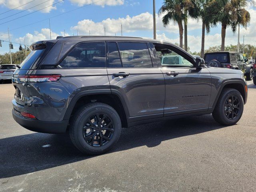
<instances>
[{"instance_id":1,"label":"long red-and-clear taillight wrapping the gray SUV's rear corner","mask_svg":"<svg viewBox=\"0 0 256 192\"><path fill-rule=\"evenodd\" d=\"M19 75L20 82L28 83L43 83L56 82L61 78L61 75Z\"/></svg>"}]
</instances>

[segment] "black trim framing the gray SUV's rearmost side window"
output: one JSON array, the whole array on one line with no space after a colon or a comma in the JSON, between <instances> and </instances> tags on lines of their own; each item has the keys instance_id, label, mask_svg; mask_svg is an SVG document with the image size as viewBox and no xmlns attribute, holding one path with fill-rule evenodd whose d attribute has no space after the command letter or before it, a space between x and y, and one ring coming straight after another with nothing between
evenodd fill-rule
<instances>
[{"instance_id":1,"label":"black trim framing the gray SUV's rearmost side window","mask_svg":"<svg viewBox=\"0 0 256 192\"><path fill-rule=\"evenodd\" d=\"M57 64L55 66L59 66L60 63L66 58L66 56L68 56L68 54L70 52L72 52L72 50L74 50L74 48L76 48L78 45L80 44L84 44L84 43L104 43L105 44L105 56L107 56L107 52L106 52L106 41L82 41L79 42L77 44L75 44L70 50L68 50L68 52L66 52L66 54L64 54L64 56L57 62ZM107 58L107 57L106 57ZM106 60L106 66L105 67L60 67L60 68L56 68L56 69L106 69L107 68L107 60Z\"/></svg>"}]
</instances>

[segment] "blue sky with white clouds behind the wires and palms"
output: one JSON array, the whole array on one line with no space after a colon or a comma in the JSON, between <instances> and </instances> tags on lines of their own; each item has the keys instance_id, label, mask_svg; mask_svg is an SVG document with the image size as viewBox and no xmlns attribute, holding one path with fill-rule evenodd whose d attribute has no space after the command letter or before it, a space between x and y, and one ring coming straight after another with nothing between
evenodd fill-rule
<instances>
[{"instance_id":1,"label":"blue sky with white clouds behind the wires and palms","mask_svg":"<svg viewBox=\"0 0 256 192\"><path fill-rule=\"evenodd\" d=\"M152 38L152 0L0 0L0 39L8 40L7 28L10 28L10 36L12 42L23 42L31 44L38 40L46 40L50 38L49 20L51 24L52 38L57 35L76 35L78 30L79 35L88 35L89 30L91 35L103 35L104 27L106 28L106 35L120 35L121 23L123 25L124 36L142 36ZM156 12L158 12L163 0L156 0ZM26 4L27 3L27 4ZM52 4L54 6L51 6ZM94 3L88 6L87 4ZM26 4L24 6L21 6ZM39 6L36 6L41 4ZM21 6L15 10L11 10ZM36 6L34 8L31 8ZM38 12L41 8L45 8ZM82 7L85 6L85 7ZM82 8L81 8L82 7ZM29 10L26 10L30 8ZM72 12L70 10L77 9ZM9 11L11 10L11 11ZM243 35L246 35L246 43L255 43L255 24L256 11L254 8L248 7L251 13L251 25L247 29L241 29L240 42L242 42ZM9 12L6 12L9 11ZM22 13L19 13L23 11ZM6 13L4 13L6 12ZM68 12L68 13L65 13ZM31 13L31 14L30 14ZM63 14L65 13L65 14ZM16 14L11 16L12 14ZM30 14L28 16L24 16ZM54 17L58 14L61 16ZM10 17L8 17L10 16ZM11 22L9 20L24 16ZM8 17L8 18L5 18ZM54 18L52 18L54 17ZM5 18L5 19L3 19ZM44 20L46 19L46 20ZM38 22L44 20L42 22ZM2 24L7 22L5 24ZM26 26L28 24L38 22ZM200 20L189 20L188 22L188 46L192 51L200 50L201 41L201 22ZM22 27L26 26L26 27ZM19 28L17 30L14 30ZM209 46L218 45L221 43L220 26L212 28L210 34L206 36L206 48ZM178 26L173 22L166 28L163 27L161 16L157 16L157 38L168 40L170 42L179 42ZM237 35L227 29L226 44L237 44ZM18 50L19 45L14 44L14 50ZM8 43L2 42L0 53L8 52Z\"/></svg>"}]
</instances>

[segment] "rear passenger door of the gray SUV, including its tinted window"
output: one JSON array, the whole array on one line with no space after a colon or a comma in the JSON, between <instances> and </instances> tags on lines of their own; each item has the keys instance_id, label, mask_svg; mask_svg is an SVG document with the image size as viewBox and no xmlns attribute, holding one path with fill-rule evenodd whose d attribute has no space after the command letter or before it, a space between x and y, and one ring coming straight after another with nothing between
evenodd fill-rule
<instances>
[{"instance_id":1,"label":"rear passenger door of the gray SUV, including its tinted window","mask_svg":"<svg viewBox=\"0 0 256 192\"><path fill-rule=\"evenodd\" d=\"M155 60L148 44L107 42L107 45L111 92L124 99L128 122L163 117L164 76L160 68L153 67L152 59L154 63Z\"/></svg>"}]
</instances>

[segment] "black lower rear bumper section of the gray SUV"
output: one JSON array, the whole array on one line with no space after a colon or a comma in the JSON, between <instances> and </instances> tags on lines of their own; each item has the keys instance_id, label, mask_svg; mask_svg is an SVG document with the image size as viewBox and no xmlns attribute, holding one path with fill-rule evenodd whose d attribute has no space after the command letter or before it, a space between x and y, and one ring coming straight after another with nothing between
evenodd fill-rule
<instances>
[{"instance_id":1,"label":"black lower rear bumper section of the gray SUV","mask_svg":"<svg viewBox=\"0 0 256 192\"><path fill-rule=\"evenodd\" d=\"M12 117L22 127L34 132L65 133L68 126L68 120L51 122L51 121L40 121L37 119L24 118L20 116L18 112L16 112L14 109L12 109Z\"/></svg>"}]
</instances>

